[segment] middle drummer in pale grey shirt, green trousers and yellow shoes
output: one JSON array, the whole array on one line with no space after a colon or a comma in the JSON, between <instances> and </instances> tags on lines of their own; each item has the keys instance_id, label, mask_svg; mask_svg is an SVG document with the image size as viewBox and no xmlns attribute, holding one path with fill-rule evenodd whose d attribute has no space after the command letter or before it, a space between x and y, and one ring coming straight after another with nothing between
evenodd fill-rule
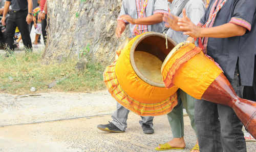
<instances>
[{"instance_id":1,"label":"middle drummer in pale grey shirt, green trousers and yellow shoes","mask_svg":"<svg viewBox=\"0 0 256 152\"><path fill-rule=\"evenodd\" d=\"M187 16L194 24L197 24L205 13L205 4L202 0L168 0L168 2L171 3L169 8L170 14L183 17L182 9L185 8L187 10ZM181 31L175 31L172 28L168 28L166 34L177 44L187 40L187 35L184 35ZM170 127L172 128L173 139L165 144L159 144L155 148L156 150L184 149L186 146L184 140L183 107L186 109L190 124L197 135L198 132L194 118L195 102L195 98L189 96L181 89L178 90L178 104L173 108L172 112L167 114ZM198 141L190 151L199 152Z\"/></svg>"}]
</instances>

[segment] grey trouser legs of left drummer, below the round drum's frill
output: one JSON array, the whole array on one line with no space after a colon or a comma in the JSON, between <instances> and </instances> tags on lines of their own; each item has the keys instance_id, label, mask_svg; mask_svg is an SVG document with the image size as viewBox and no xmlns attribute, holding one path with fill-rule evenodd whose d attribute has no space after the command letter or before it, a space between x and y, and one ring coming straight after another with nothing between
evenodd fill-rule
<instances>
[{"instance_id":1,"label":"grey trouser legs of left drummer, below the round drum's frill","mask_svg":"<svg viewBox=\"0 0 256 152\"><path fill-rule=\"evenodd\" d=\"M120 103L117 102L116 111L111 116L112 123L116 125L122 131L125 131L127 127L126 120L128 119L129 110L123 107ZM154 117L142 117L142 120L139 121L140 125L149 124L151 127L153 126L153 118Z\"/></svg>"}]
</instances>

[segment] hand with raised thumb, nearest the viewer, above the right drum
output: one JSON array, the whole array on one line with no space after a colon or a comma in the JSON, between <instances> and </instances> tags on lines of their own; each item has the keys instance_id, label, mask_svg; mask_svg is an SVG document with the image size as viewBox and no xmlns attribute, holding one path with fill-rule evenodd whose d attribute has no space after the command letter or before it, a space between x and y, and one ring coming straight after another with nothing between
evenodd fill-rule
<instances>
[{"instance_id":1,"label":"hand with raised thumb, nearest the viewer, above the right drum","mask_svg":"<svg viewBox=\"0 0 256 152\"><path fill-rule=\"evenodd\" d=\"M183 31L184 35L189 35L191 37L201 37L201 29L200 27L196 26L186 15L186 10L182 10L183 18L178 20L178 25L180 29Z\"/></svg>"}]
</instances>

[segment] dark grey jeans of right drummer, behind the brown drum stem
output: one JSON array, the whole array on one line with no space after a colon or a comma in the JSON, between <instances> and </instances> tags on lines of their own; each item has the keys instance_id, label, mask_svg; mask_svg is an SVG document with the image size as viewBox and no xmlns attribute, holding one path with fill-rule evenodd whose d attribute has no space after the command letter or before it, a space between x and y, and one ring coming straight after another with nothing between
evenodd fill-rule
<instances>
[{"instance_id":1,"label":"dark grey jeans of right drummer, behind the brown drum stem","mask_svg":"<svg viewBox=\"0 0 256 152\"><path fill-rule=\"evenodd\" d=\"M237 95L242 97L238 66L230 83ZM195 123L200 152L246 151L243 124L231 107L198 100L195 103Z\"/></svg>"}]
</instances>

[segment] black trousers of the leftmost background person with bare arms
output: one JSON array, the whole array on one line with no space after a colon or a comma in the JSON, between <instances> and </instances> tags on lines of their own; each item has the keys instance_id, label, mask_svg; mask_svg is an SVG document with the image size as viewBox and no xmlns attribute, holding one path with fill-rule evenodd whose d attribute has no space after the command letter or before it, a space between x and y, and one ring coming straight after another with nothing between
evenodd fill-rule
<instances>
[{"instance_id":1,"label":"black trousers of the leftmost background person with bare arms","mask_svg":"<svg viewBox=\"0 0 256 152\"><path fill-rule=\"evenodd\" d=\"M28 10L26 11L11 11L10 16L6 23L6 42L7 48L13 50L13 35L15 33L16 27L18 27L20 34L22 35L22 41L24 47L27 49L32 49L30 32L28 28L28 24L26 21L26 17L28 15Z\"/></svg>"}]
</instances>

